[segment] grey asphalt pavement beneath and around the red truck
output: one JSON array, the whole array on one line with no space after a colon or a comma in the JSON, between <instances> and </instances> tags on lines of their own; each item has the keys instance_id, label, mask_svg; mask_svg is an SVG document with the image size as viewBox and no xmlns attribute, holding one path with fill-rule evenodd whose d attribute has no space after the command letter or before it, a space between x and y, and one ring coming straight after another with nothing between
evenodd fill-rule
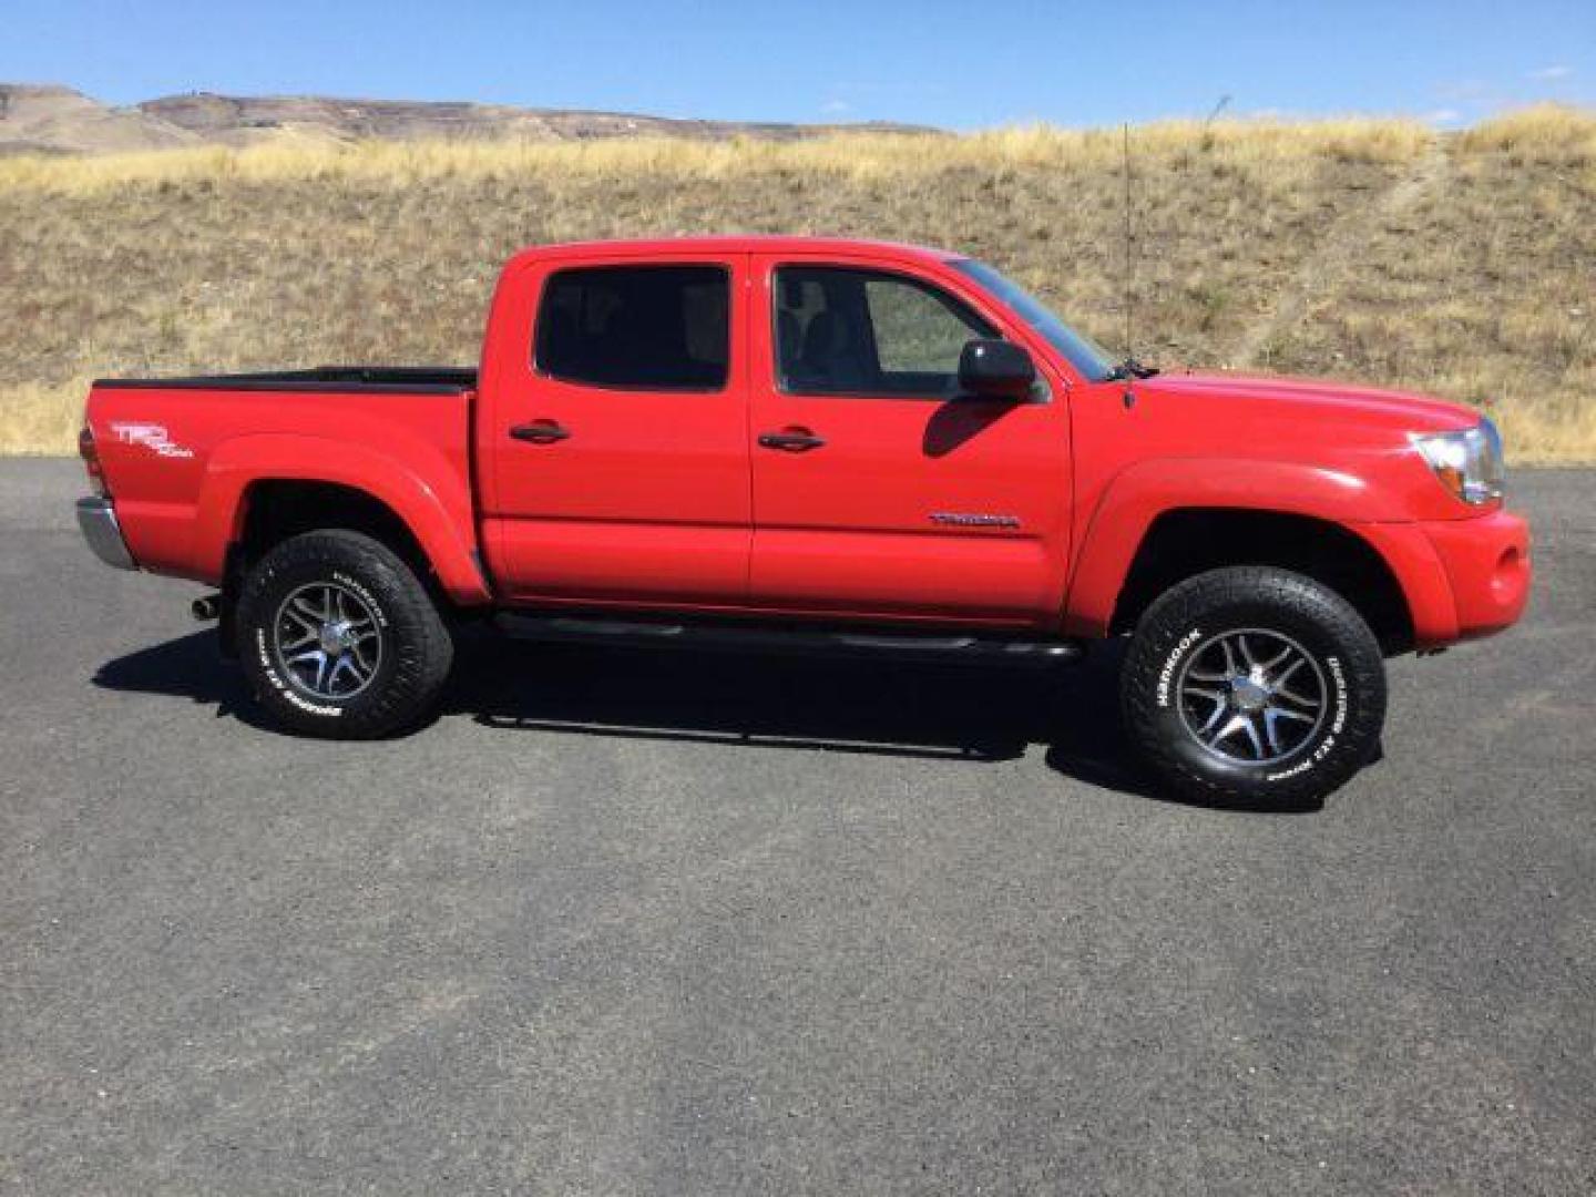
<instances>
[{"instance_id":1,"label":"grey asphalt pavement beneath and around the red truck","mask_svg":"<svg viewBox=\"0 0 1596 1197\"><path fill-rule=\"evenodd\" d=\"M0 1191L1591 1192L1596 474L1318 812L1160 801L1111 669L471 651L252 723L0 463Z\"/></svg>"}]
</instances>

